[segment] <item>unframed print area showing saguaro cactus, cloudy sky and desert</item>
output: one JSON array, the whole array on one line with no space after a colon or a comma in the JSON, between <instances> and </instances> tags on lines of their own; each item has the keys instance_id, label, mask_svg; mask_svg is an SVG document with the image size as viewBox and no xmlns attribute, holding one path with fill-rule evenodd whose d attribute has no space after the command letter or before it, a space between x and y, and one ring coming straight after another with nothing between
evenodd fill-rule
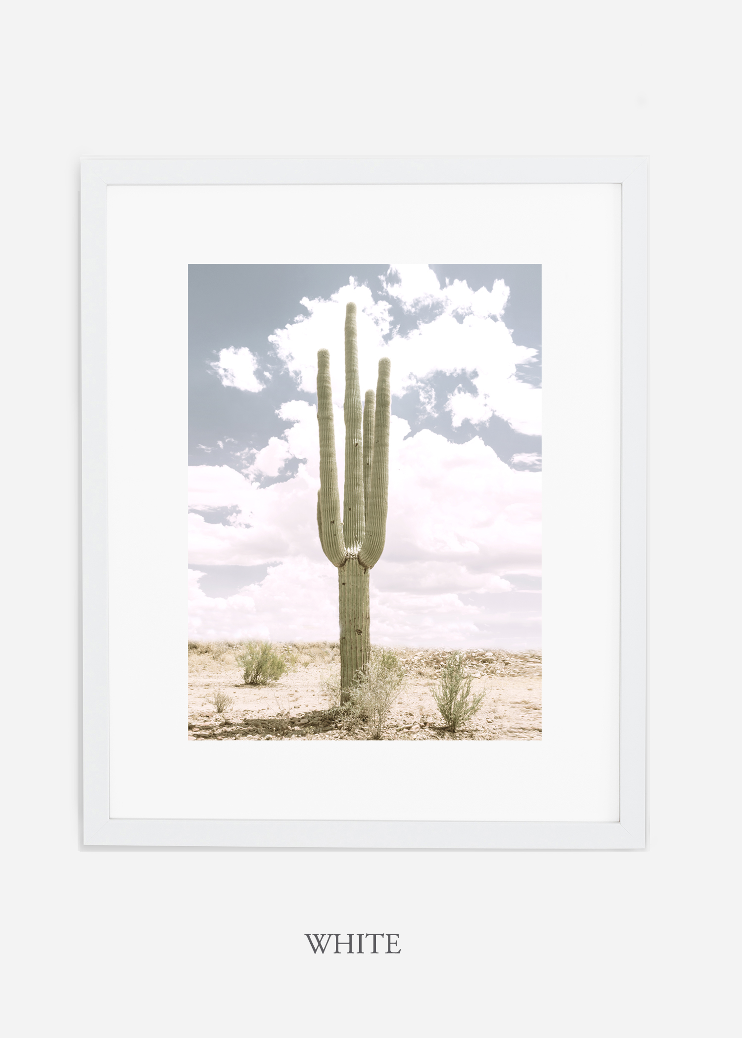
<instances>
[{"instance_id":1,"label":"unframed print area showing saguaro cactus, cloudy sky and desert","mask_svg":"<svg viewBox=\"0 0 742 1038\"><path fill-rule=\"evenodd\" d=\"M540 266L188 277L189 738L540 739Z\"/></svg>"}]
</instances>

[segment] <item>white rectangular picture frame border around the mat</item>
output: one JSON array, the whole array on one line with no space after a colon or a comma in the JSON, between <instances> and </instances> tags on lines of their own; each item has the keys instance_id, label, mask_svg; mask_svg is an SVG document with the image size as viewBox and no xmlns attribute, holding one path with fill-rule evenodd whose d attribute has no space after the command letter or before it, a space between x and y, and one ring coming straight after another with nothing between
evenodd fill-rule
<instances>
[{"instance_id":1,"label":"white rectangular picture frame border around the mat","mask_svg":"<svg viewBox=\"0 0 742 1038\"><path fill-rule=\"evenodd\" d=\"M110 811L107 194L116 185L620 186L618 819L121 818ZM645 846L646 190L641 157L85 159L81 163L83 842L98 846L641 849Z\"/></svg>"}]
</instances>

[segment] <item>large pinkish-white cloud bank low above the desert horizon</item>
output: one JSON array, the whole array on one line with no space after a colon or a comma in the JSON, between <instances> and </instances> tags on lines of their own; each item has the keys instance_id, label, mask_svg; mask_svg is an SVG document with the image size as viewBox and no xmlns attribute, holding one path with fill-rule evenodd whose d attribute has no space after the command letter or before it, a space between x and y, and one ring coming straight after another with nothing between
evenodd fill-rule
<instances>
[{"instance_id":1,"label":"large pinkish-white cloud bank low above the desert horizon","mask_svg":"<svg viewBox=\"0 0 742 1038\"><path fill-rule=\"evenodd\" d=\"M307 459L291 479L261 487L249 471L226 465L189 470L191 508L237 510L223 523L189 516L190 565L273 564L262 583L228 598L209 598L191 576L193 637L337 638L337 570L317 535L316 412L303 402L285 408L296 418L282 457ZM392 418L387 544L371 575L372 637L481 645L494 623L493 600L508 612L507 574L540 572L540 474L511 469L478 437L451 443L428 430L408 433L406 421Z\"/></svg>"}]
</instances>

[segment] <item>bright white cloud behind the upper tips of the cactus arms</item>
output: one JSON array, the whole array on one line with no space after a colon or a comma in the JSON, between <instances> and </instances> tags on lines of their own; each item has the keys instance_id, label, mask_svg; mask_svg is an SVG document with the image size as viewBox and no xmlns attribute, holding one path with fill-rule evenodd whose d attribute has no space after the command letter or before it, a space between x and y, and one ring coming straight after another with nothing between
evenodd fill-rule
<instances>
[{"instance_id":1,"label":"bright white cloud behind the upper tips of the cactus arms","mask_svg":"<svg viewBox=\"0 0 742 1038\"><path fill-rule=\"evenodd\" d=\"M466 281L441 286L429 267L415 265L390 268L383 285L404 309L435 305L435 316L406 334L385 338L392 329L391 307L374 300L367 285L351 281L329 299L303 299L308 316L270 336L301 389L316 391L317 351L326 348L333 400L342 406L345 305L353 301L357 306L362 393L376 388L382 356L392 360L392 392L402 395L418 388L428 409L432 408L432 397L427 380L438 372L466 372L472 377L476 395L459 389L450 397L446 407L454 426L460 426L465 418L475 425L486 422L495 414L516 432L540 435L541 390L522 382L516 374L516 365L531 362L535 351L513 343L501 319L509 294L503 281L496 280L489 291L482 288L474 292Z\"/></svg>"}]
</instances>

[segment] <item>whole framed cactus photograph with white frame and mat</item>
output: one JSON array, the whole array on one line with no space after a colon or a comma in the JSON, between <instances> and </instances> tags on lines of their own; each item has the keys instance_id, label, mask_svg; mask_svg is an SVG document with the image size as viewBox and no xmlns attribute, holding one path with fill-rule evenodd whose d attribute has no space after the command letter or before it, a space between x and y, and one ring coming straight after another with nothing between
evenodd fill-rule
<instances>
[{"instance_id":1,"label":"whole framed cactus photograph with white frame and mat","mask_svg":"<svg viewBox=\"0 0 742 1038\"><path fill-rule=\"evenodd\" d=\"M646 176L82 162L85 844L644 846Z\"/></svg>"}]
</instances>

